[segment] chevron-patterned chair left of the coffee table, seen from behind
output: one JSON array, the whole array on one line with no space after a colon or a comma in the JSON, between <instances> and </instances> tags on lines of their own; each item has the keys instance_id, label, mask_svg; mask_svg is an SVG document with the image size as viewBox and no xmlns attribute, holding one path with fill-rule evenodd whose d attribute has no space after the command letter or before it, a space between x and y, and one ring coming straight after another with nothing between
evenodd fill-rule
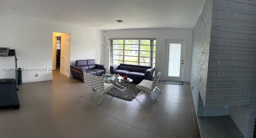
<instances>
[{"instance_id":1,"label":"chevron-patterned chair left of the coffee table, seen from behind","mask_svg":"<svg viewBox=\"0 0 256 138\"><path fill-rule=\"evenodd\" d=\"M113 87L113 84L104 83L104 80L101 76L95 76L86 72L84 72L84 83L87 86L86 90L90 88L94 92L103 93L102 97L100 98L100 101L98 102L98 105L100 104L104 94ZM86 90L84 91L84 93L86 92ZM81 95L81 97L84 95L84 93Z\"/></svg>"}]
</instances>

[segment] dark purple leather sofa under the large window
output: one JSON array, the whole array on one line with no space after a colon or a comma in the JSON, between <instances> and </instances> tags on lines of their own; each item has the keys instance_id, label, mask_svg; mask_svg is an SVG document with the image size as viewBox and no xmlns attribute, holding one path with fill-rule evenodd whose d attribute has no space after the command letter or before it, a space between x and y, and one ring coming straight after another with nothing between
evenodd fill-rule
<instances>
[{"instance_id":1,"label":"dark purple leather sofa under the large window","mask_svg":"<svg viewBox=\"0 0 256 138\"><path fill-rule=\"evenodd\" d=\"M150 66L120 64L110 66L111 74L120 74L120 76L127 75L132 80L138 82L142 80L151 80L154 74L155 68Z\"/></svg>"}]
</instances>

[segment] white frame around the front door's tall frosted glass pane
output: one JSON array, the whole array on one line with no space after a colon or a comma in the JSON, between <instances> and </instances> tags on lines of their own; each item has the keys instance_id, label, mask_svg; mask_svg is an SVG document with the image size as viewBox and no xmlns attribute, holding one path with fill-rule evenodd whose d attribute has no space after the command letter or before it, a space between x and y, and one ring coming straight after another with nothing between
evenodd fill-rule
<instances>
[{"instance_id":1,"label":"white frame around the front door's tall frosted glass pane","mask_svg":"<svg viewBox=\"0 0 256 138\"><path fill-rule=\"evenodd\" d=\"M183 41L183 45L184 45L184 48L183 48L183 60L184 60L184 64L183 64L183 71L182 72L180 72L180 74L182 74L182 77L180 78L181 80L176 80L176 79L174 79L174 81L182 81L182 82L184 82L185 81L185 75L186 75L186 47L187 47L187 39L185 39L185 38L166 38L165 39L165 67L164 67L164 80L168 80L168 77L167 77L167 75L168 75L168 73L167 73L167 70L168 70L168 68L167 67L169 67L169 62L167 62L167 59L169 59L169 55L168 55L168 53L169 52L167 52L167 41L168 40L174 40L174 41ZM182 50L182 49L181 49ZM182 56L182 54L181 54L181 56ZM182 60L182 57L180 58L180 60Z\"/></svg>"}]
</instances>

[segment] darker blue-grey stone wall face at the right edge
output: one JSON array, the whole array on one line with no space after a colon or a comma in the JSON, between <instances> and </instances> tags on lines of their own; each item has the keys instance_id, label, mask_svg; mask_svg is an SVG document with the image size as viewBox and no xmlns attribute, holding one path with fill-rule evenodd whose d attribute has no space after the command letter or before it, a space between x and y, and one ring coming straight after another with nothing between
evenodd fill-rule
<instances>
[{"instance_id":1,"label":"darker blue-grey stone wall face at the right edge","mask_svg":"<svg viewBox=\"0 0 256 138\"><path fill-rule=\"evenodd\" d=\"M214 0L206 106L256 102L256 1Z\"/></svg>"}]
</instances>

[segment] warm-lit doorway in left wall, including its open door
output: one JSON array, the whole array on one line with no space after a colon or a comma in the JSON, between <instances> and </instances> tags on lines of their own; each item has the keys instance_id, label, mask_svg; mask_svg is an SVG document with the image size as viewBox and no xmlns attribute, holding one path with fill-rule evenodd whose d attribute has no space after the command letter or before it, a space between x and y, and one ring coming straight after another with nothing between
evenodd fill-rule
<instances>
[{"instance_id":1,"label":"warm-lit doorway in left wall, including its open door","mask_svg":"<svg viewBox=\"0 0 256 138\"><path fill-rule=\"evenodd\" d=\"M53 32L52 67L56 72L70 77L70 34Z\"/></svg>"}]
</instances>

